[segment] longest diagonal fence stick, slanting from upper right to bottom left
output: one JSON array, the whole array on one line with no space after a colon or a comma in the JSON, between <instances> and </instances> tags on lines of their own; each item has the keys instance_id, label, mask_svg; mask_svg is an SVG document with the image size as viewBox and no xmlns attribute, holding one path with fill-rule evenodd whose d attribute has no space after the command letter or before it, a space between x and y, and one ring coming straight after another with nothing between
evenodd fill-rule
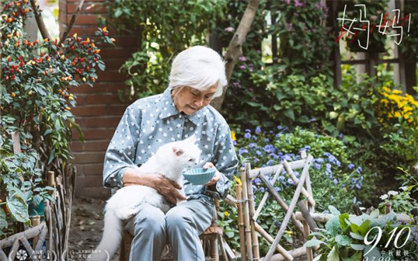
<instances>
[{"instance_id":1,"label":"longest diagonal fence stick, slanting from upper right to bottom left","mask_svg":"<svg viewBox=\"0 0 418 261\"><path fill-rule=\"evenodd\" d=\"M308 170L309 170L309 167L312 164L313 159L314 158L311 155L309 155L309 157L307 159L307 164L305 164L305 166L303 168L303 171L302 171L302 175L300 176L300 182L299 182L299 184L297 184L295 194L293 195L291 205L289 205L288 212L286 213L286 216L284 216L284 221L281 223L279 233L277 234L276 238L274 239L274 242L272 243L272 246L270 246L270 249L268 250L267 255L265 255L265 260L270 260L270 258L272 258L272 255L273 255L277 245L279 244L281 237L283 236L284 230L286 230L288 222L291 220L291 216L293 215L293 209L295 209L297 200L299 199L300 192L302 191L304 181L307 178Z\"/></svg>"}]
</instances>

